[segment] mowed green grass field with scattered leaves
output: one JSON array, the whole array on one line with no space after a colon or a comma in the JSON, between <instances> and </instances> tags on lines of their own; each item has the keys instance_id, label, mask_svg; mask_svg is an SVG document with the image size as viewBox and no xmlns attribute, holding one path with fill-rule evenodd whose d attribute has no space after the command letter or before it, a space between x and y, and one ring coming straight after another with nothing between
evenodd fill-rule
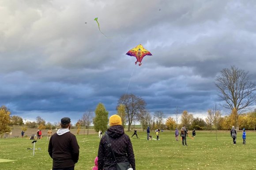
<instances>
[{"instance_id":1,"label":"mowed green grass field with scattered leaves","mask_svg":"<svg viewBox=\"0 0 256 170\"><path fill-rule=\"evenodd\" d=\"M132 132L126 132L130 137ZM196 137L187 138L188 146L175 141L174 131L160 132L159 141L147 141L146 132L138 132L131 138L137 170L250 170L256 169L256 132L246 132L246 145L242 145L242 133L237 134L237 145L233 145L229 131L196 131ZM153 138L155 133L151 132ZM192 135L192 134L190 134ZM79 161L75 170L91 170L98 154L98 134L76 135L79 146ZM180 139L180 137L179 137ZM21 138L0 139L0 170L51 170L52 159L47 149L46 137L36 142L33 156L31 140Z\"/></svg>"}]
</instances>

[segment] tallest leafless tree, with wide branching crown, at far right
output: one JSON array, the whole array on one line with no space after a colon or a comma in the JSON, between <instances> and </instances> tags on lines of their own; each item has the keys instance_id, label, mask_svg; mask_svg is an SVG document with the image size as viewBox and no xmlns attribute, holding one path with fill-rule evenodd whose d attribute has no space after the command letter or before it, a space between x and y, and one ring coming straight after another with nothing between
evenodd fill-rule
<instances>
[{"instance_id":1,"label":"tallest leafless tree, with wide branching crown, at far right","mask_svg":"<svg viewBox=\"0 0 256 170\"><path fill-rule=\"evenodd\" d=\"M256 85L249 80L248 72L231 66L230 69L223 69L221 75L216 77L218 96L225 101L220 104L226 109L238 112L238 116L249 105L256 101ZM239 129L239 125L236 125Z\"/></svg>"}]
</instances>

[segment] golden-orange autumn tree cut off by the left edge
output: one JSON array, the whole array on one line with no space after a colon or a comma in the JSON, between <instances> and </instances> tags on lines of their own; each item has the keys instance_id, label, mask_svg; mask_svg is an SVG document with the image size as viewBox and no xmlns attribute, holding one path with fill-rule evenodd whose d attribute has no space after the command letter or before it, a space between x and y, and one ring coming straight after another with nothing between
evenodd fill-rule
<instances>
[{"instance_id":1,"label":"golden-orange autumn tree cut off by the left edge","mask_svg":"<svg viewBox=\"0 0 256 170\"><path fill-rule=\"evenodd\" d=\"M11 122L10 117L11 112L7 109L6 106L0 107L0 135L2 136L5 132L9 132L11 128L8 124Z\"/></svg>"}]
</instances>

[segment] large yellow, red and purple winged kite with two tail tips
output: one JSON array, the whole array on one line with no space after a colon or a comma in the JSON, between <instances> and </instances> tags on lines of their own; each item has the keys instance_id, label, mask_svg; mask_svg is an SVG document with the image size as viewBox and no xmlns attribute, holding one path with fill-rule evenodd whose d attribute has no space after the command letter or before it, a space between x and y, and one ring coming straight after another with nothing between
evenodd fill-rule
<instances>
[{"instance_id":1,"label":"large yellow, red and purple winged kite with two tail tips","mask_svg":"<svg viewBox=\"0 0 256 170\"><path fill-rule=\"evenodd\" d=\"M136 57L137 61L135 62L135 65L137 64L137 62L139 62L139 66L141 65L141 61L145 55L152 55L141 44L139 44L135 48L132 48L132 50L128 51L126 54Z\"/></svg>"}]
</instances>

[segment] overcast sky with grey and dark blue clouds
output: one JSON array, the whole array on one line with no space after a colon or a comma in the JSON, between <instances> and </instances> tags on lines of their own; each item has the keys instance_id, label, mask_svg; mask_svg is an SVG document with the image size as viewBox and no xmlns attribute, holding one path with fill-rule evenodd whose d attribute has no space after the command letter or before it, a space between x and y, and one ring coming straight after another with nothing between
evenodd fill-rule
<instances>
[{"instance_id":1,"label":"overcast sky with grey and dark blue clouds","mask_svg":"<svg viewBox=\"0 0 256 170\"><path fill-rule=\"evenodd\" d=\"M75 123L99 102L115 114L127 90L152 114L177 106L204 116L220 102L222 69L255 82L255 9L254 0L0 0L0 105ZM126 55L138 44L152 54L141 66Z\"/></svg>"}]
</instances>

